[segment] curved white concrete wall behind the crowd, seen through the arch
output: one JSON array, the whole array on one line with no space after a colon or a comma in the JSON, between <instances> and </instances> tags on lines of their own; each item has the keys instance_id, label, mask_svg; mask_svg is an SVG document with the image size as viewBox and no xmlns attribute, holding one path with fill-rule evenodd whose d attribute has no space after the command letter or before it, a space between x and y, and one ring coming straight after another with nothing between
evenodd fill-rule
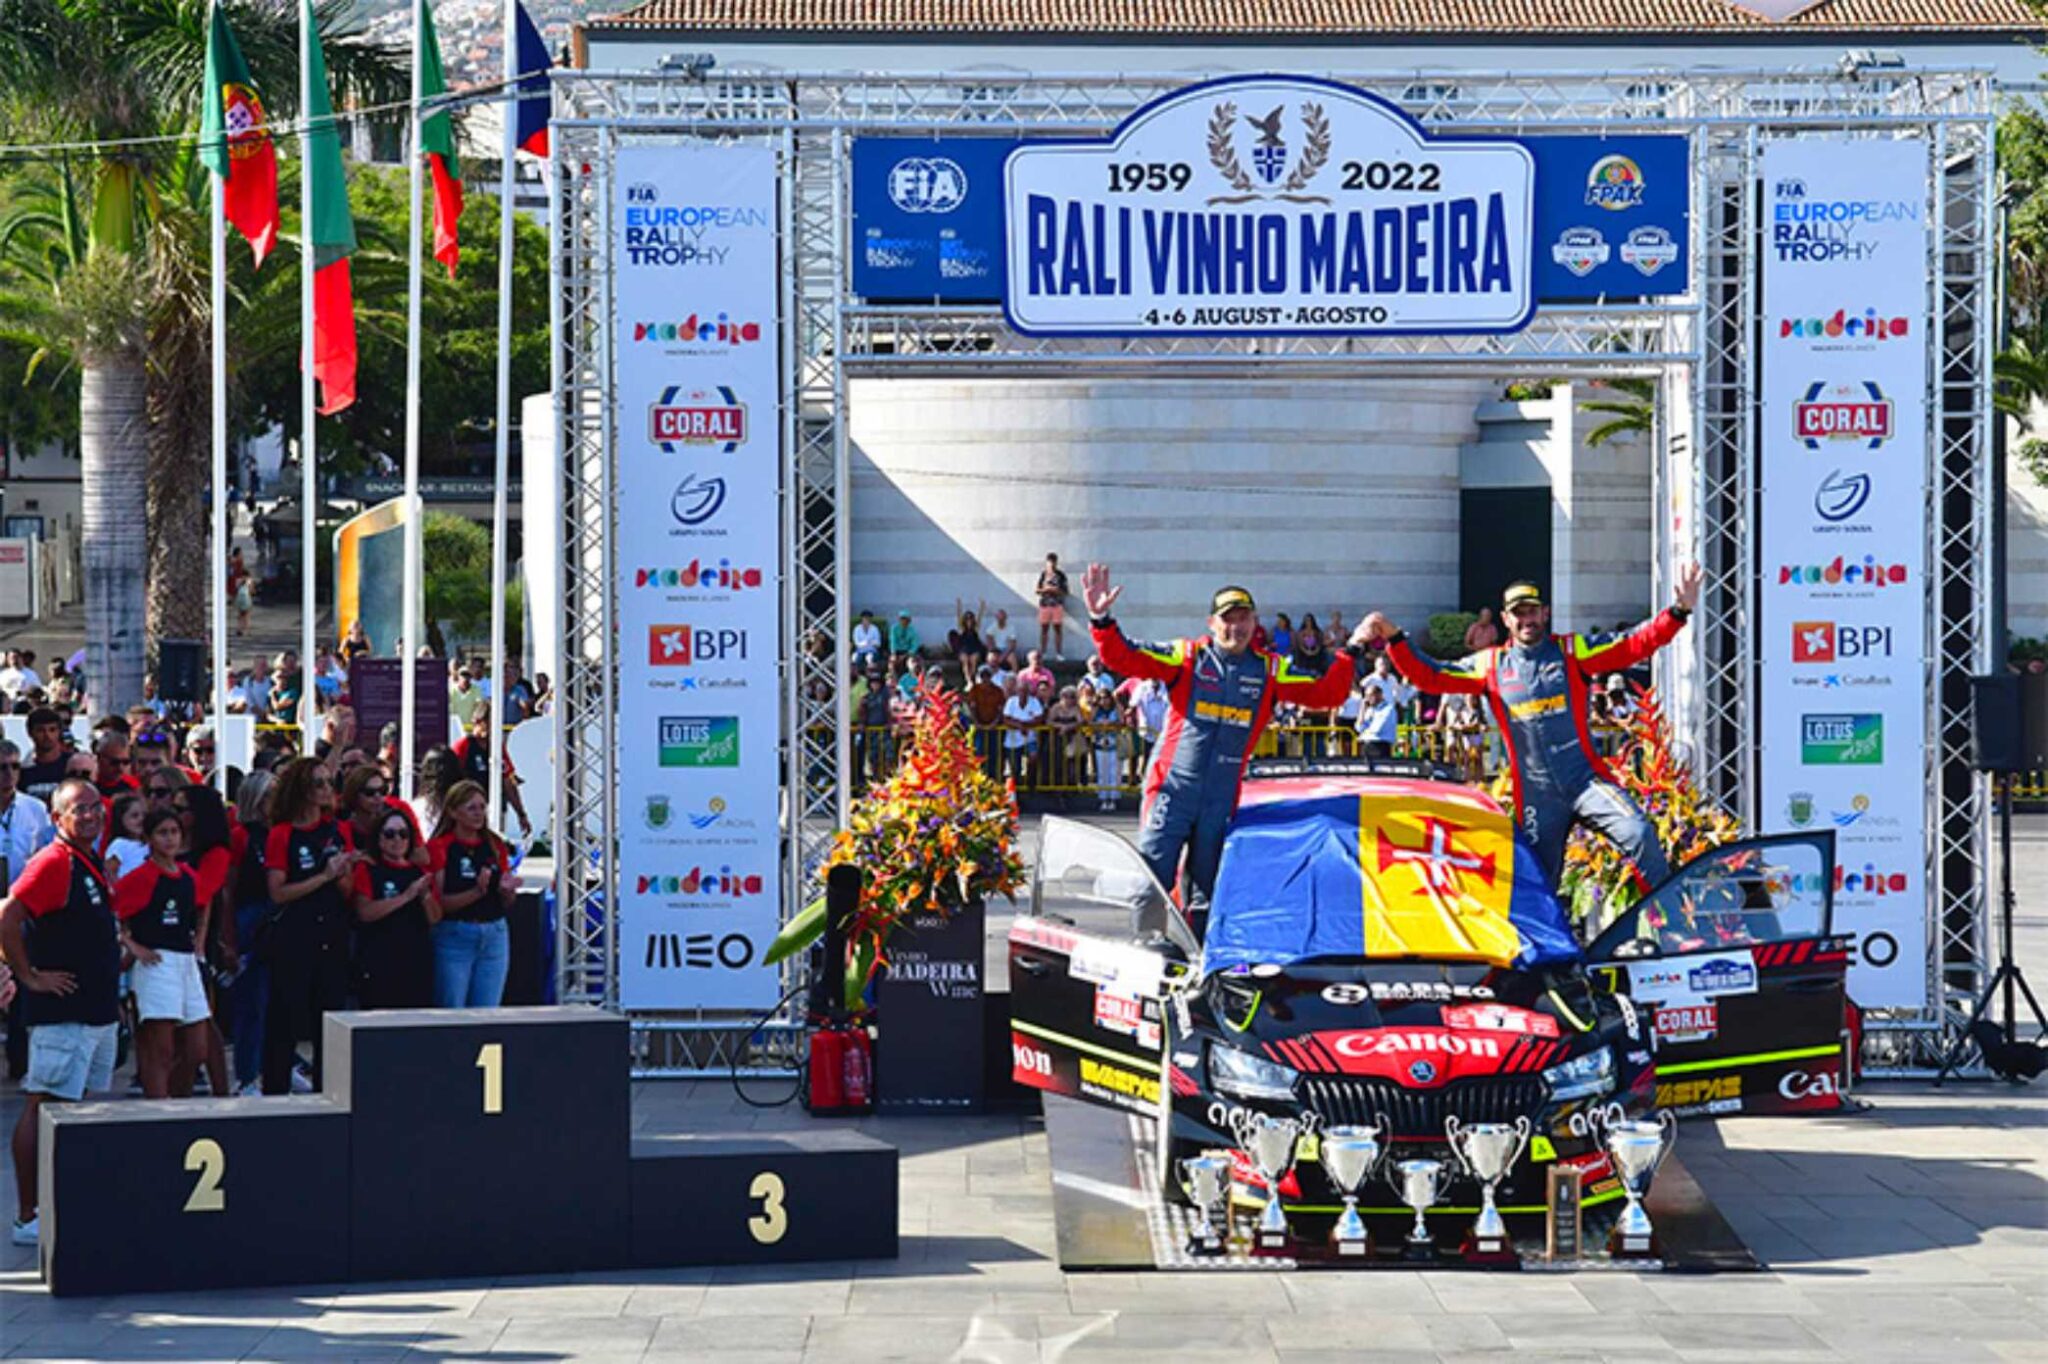
<instances>
[{"instance_id":1,"label":"curved white concrete wall behind the crowd, seen through the arch","mask_svg":"<svg viewBox=\"0 0 2048 1364\"><path fill-rule=\"evenodd\" d=\"M1366 608L1421 621L1458 588L1458 451L1491 383L866 379L852 387L854 608L909 608L928 643L952 598L1036 637L1047 551L1112 565L1133 635L1200 629L1243 582L1264 616Z\"/></svg>"}]
</instances>

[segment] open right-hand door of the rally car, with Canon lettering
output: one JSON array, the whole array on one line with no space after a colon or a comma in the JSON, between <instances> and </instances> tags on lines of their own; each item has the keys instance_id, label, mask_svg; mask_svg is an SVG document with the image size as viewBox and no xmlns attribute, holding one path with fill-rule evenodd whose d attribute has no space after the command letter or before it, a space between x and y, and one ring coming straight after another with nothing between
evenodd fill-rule
<instances>
[{"instance_id":1,"label":"open right-hand door of the rally car, with Canon lettering","mask_svg":"<svg viewBox=\"0 0 2048 1364\"><path fill-rule=\"evenodd\" d=\"M1751 838L1694 858L1608 926L1587 965L1655 1026L1657 1106L1843 1106L1849 940L1835 938L1835 834Z\"/></svg>"}]
</instances>

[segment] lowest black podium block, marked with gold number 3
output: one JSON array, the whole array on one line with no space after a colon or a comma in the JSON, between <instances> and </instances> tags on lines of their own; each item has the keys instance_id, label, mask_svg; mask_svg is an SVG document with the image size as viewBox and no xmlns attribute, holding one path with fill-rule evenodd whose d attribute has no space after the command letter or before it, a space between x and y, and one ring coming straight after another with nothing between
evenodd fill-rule
<instances>
[{"instance_id":1,"label":"lowest black podium block, marked with gold number 3","mask_svg":"<svg viewBox=\"0 0 2048 1364\"><path fill-rule=\"evenodd\" d=\"M895 1255L887 1143L842 1131L633 1141L633 1268Z\"/></svg>"}]
</instances>

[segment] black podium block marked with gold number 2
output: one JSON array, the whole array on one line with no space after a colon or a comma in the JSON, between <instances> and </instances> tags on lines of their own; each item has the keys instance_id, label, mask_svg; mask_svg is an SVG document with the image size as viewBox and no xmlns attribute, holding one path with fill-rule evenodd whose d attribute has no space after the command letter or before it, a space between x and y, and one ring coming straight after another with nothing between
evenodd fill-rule
<instances>
[{"instance_id":1,"label":"black podium block marked with gold number 2","mask_svg":"<svg viewBox=\"0 0 2048 1364\"><path fill-rule=\"evenodd\" d=\"M348 1278L348 1110L326 1096L45 1104L57 1296Z\"/></svg>"}]
</instances>

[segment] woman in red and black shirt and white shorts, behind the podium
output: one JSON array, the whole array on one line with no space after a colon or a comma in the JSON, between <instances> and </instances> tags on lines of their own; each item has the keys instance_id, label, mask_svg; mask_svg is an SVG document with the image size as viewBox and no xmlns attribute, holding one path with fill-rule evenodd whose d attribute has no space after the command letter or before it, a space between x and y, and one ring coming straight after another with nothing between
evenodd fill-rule
<instances>
[{"instance_id":1,"label":"woman in red and black shirt and white shorts, behind the podium","mask_svg":"<svg viewBox=\"0 0 2048 1364\"><path fill-rule=\"evenodd\" d=\"M135 958L135 1071L143 1098L184 1098L213 1016L197 956L197 944L207 940L207 905L193 868L178 860L178 813L150 811L143 842L150 858L115 883L121 946Z\"/></svg>"}]
</instances>

